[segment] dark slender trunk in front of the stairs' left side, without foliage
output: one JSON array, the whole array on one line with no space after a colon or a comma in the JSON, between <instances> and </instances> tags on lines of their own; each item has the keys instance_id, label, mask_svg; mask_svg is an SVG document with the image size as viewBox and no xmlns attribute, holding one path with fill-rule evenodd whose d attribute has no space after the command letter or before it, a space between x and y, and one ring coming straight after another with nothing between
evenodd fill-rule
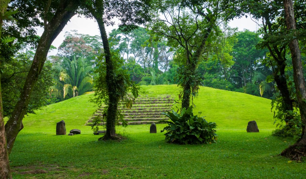
<instances>
[{"instance_id":1,"label":"dark slender trunk in front of the stairs' left side, without foliage","mask_svg":"<svg viewBox=\"0 0 306 179\"><path fill-rule=\"evenodd\" d=\"M113 139L114 136L116 136L116 116L117 116L117 110L118 110L118 103L119 99L116 96L117 91L117 85L114 73L114 65L113 61L111 59L110 54L110 47L108 43L108 38L105 30L105 25L103 21L103 1L102 0L96 0L95 2L96 9L93 9L92 7L88 6L88 10L90 13L95 17L95 20L98 23L100 34L102 38L103 43L103 50L105 53L105 63L106 63L106 84L107 84L107 91L108 91L108 109L107 109L107 115L106 115L106 133L104 135L104 140L107 139Z\"/></svg>"}]
</instances>

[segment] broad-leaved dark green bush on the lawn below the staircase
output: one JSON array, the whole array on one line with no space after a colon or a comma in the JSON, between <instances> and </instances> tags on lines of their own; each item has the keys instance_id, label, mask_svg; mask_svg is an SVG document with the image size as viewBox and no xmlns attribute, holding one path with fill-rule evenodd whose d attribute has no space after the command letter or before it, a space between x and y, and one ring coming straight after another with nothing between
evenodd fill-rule
<instances>
[{"instance_id":1,"label":"broad-leaved dark green bush on the lawn below the staircase","mask_svg":"<svg viewBox=\"0 0 306 179\"><path fill-rule=\"evenodd\" d=\"M187 110L183 108L181 114L177 114L173 110L163 114L171 120L165 121L168 126L161 131L167 131L165 133L166 142L177 144L208 144L216 142L218 136L215 133L216 123L207 122L203 117L193 115L192 106Z\"/></svg>"}]
</instances>

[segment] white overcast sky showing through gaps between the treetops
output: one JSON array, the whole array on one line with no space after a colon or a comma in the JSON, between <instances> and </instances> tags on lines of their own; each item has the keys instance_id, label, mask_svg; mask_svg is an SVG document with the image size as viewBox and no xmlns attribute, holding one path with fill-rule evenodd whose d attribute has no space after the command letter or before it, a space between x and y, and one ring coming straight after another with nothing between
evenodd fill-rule
<instances>
[{"instance_id":1,"label":"white overcast sky showing through gaps between the treetops","mask_svg":"<svg viewBox=\"0 0 306 179\"><path fill-rule=\"evenodd\" d=\"M256 25L254 21L251 20L250 17L241 19L234 19L230 21L229 26L234 28L238 27L239 31L243 29L248 29L250 31L256 31L259 27ZM107 33L109 33L112 29L118 28L118 26L108 26L106 27ZM52 45L58 48L63 42L65 32L70 32L71 30L77 30L80 34L88 34L88 35L100 35L98 24L93 19L86 19L84 17L73 16L71 20L64 27L63 31L58 35L58 37L53 41ZM37 31L37 35L42 35L43 28L39 28ZM52 50L48 53L48 55L55 55L57 50Z\"/></svg>"}]
</instances>

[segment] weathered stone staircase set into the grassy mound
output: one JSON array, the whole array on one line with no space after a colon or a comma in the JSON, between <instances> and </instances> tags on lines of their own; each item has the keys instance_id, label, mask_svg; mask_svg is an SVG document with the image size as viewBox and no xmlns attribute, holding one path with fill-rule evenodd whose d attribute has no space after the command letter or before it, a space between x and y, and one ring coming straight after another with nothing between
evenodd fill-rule
<instances>
[{"instance_id":1,"label":"weathered stone staircase set into the grassy mound","mask_svg":"<svg viewBox=\"0 0 306 179\"><path fill-rule=\"evenodd\" d=\"M162 112L170 111L173 103L174 98L170 95L160 95L155 98L139 96L133 103L132 108L121 109L121 114L123 114L128 125L152 124L153 122L162 124L164 123L162 121L169 120L168 117L162 115ZM85 125L92 125L92 119L97 116L102 117L102 111L103 108L97 110Z\"/></svg>"}]
</instances>

